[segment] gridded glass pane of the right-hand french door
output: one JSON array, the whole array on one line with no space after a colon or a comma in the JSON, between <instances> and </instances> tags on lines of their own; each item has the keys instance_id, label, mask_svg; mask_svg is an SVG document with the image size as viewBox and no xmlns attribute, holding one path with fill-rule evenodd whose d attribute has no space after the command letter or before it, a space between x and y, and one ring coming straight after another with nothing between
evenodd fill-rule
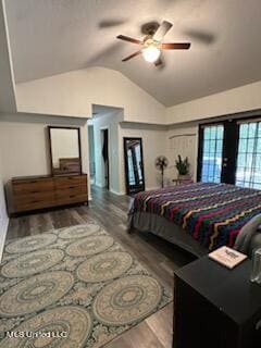
<instances>
[{"instance_id":1,"label":"gridded glass pane of the right-hand french door","mask_svg":"<svg viewBox=\"0 0 261 348\"><path fill-rule=\"evenodd\" d=\"M261 122L239 126L236 185L261 189Z\"/></svg>"}]
</instances>

